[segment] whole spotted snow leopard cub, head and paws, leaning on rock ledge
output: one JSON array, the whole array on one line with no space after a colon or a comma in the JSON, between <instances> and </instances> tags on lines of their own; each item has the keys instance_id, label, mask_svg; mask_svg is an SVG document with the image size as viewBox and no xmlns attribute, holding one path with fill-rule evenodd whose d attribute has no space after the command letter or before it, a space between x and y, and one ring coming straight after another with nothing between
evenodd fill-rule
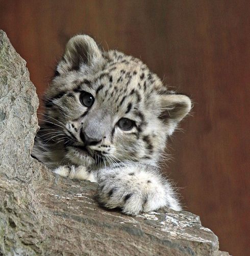
<instances>
[{"instance_id":1,"label":"whole spotted snow leopard cub, head and paws, leaning on rock ledge","mask_svg":"<svg viewBox=\"0 0 250 256\"><path fill-rule=\"evenodd\" d=\"M98 200L131 215L181 210L158 162L191 109L139 59L72 37L45 94L32 155L56 174L98 183Z\"/></svg>"}]
</instances>

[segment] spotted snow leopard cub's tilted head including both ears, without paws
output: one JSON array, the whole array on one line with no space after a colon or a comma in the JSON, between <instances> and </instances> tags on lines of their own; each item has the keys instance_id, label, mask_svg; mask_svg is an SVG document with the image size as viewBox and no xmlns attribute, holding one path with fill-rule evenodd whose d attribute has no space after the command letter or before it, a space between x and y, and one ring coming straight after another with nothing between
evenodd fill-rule
<instances>
[{"instance_id":1,"label":"spotted snow leopard cub's tilted head including both ears, without paws","mask_svg":"<svg viewBox=\"0 0 250 256\"><path fill-rule=\"evenodd\" d=\"M65 135L54 146L73 164L94 165L156 162L191 101L168 91L139 59L103 52L78 35L66 46L45 105L47 123Z\"/></svg>"}]
</instances>

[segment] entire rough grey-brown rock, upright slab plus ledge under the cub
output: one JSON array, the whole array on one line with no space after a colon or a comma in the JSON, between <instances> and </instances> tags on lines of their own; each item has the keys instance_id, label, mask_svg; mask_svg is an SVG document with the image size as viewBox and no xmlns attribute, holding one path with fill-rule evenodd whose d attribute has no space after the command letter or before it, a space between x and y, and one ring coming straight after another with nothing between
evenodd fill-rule
<instances>
[{"instance_id":1,"label":"entire rough grey-brown rock, upright slab plus ledge under the cub","mask_svg":"<svg viewBox=\"0 0 250 256\"><path fill-rule=\"evenodd\" d=\"M38 98L25 66L0 31L0 255L227 255L189 212L101 208L95 183L56 177L31 158Z\"/></svg>"}]
</instances>

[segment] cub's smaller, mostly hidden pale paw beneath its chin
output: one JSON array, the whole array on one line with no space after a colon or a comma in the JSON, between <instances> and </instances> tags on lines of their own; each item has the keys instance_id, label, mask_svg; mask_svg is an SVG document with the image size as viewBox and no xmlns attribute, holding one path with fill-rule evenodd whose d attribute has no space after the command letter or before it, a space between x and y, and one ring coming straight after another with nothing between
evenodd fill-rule
<instances>
[{"instance_id":1,"label":"cub's smaller, mostly hidden pale paw beneath its chin","mask_svg":"<svg viewBox=\"0 0 250 256\"><path fill-rule=\"evenodd\" d=\"M94 176L87 171L85 166L61 165L54 170L54 173L70 179L96 182Z\"/></svg>"}]
</instances>

